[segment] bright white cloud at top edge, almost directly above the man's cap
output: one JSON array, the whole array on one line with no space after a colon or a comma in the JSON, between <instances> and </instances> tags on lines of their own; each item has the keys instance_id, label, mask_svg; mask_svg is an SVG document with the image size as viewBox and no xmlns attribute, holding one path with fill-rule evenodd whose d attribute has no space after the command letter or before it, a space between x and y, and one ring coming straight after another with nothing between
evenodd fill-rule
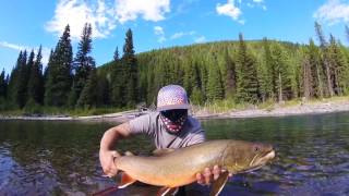
<instances>
[{"instance_id":1,"label":"bright white cloud at top edge, almost directly above the man's cap","mask_svg":"<svg viewBox=\"0 0 349 196\"><path fill-rule=\"evenodd\" d=\"M170 11L170 0L116 0L116 16L120 23L142 16L145 21L161 21Z\"/></svg>"}]
</instances>

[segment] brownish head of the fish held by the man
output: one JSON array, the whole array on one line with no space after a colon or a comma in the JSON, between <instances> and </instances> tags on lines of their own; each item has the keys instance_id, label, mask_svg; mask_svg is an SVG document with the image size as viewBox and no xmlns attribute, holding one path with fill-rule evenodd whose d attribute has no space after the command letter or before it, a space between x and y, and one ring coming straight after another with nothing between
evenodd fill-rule
<instances>
[{"instance_id":1,"label":"brownish head of the fish held by the man","mask_svg":"<svg viewBox=\"0 0 349 196\"><path fill-rule=\"evenodd\" d=\"M269 144L234 142L225 151L225 166L231 173L243 173L260 169L275 157Z\"/></svg>"}]
</instances>

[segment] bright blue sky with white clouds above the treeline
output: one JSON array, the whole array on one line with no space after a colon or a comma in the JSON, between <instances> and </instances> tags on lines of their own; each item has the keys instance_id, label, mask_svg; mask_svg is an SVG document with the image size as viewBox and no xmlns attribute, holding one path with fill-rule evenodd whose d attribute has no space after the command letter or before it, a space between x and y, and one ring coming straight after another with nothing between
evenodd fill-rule
<instances>
[{"instance_id":1,"label":"bright blue sky with white clouds above the treeline","mask_svg":"<svg viewBox=\"0 0 349 196\"><path fill-rule=\"evenodd\" d=\"M93 26L97 65L119 51L128 28L136 52L195 42L245 39L308 42L314 22L348 46L349 0L11 0L0 5L0 69L11 72L20 50L44 48L44 63L64 26L73 51L85 22ZM316 39L316 38L315 38ZM120 51L121 52L121 51Z\"/></svg>"}]
</instances>

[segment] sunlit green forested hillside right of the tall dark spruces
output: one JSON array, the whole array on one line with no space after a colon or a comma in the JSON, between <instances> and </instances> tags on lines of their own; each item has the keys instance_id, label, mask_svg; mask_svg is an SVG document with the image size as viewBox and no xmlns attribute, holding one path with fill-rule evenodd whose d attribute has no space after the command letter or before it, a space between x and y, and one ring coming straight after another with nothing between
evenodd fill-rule
<instances>
[{"instance_id":1,"label":"sunlit green forested hillside right of the tall dark spruces","mask_svg":"<svg viewBox=\"0 0 349 196\"><path fill-rule=\"evenodd\" d=\"M183 85L195 105L221 99L257 103L348 95L348 48L332 35L326 40L317 23L315 30L318 46L313 39L308 45L267 38L245 41L240 34L237 41L140 53L137 101L156 102L157 90L167 84ZM100 75L111 82L123 77L118 64L120 60L103 65Z\"/></svg>"}]
</instances>

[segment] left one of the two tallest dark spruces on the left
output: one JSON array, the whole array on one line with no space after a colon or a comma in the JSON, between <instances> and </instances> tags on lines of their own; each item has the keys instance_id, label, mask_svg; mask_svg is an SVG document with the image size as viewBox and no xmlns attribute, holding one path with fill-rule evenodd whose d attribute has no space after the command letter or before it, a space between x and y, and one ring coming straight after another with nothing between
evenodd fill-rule
<instances>
[{"instance_id":1,"label":"left one of the two tallest dark spruces on the left","mask_svg":"<svg viewBox=\"0 0 349 196\"><path fill-rule=\"evenodd\" d=\"M70 27L67 25L48 63L48 78L45 90L45 103L47 106L68 105L72 83L72 59Z\"/></svg>"}]
</instances>

